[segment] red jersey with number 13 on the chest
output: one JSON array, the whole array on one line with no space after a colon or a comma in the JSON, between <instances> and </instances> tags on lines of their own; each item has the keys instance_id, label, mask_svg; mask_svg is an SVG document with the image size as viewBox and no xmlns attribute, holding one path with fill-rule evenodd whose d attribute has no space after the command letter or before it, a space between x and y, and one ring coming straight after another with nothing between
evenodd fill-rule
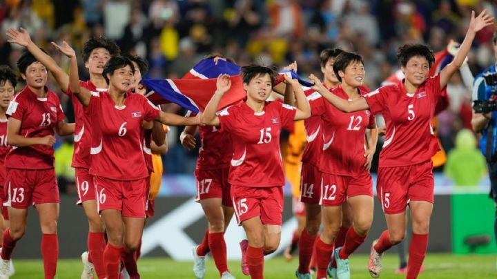
<instances>
[{"instance_id":1,"label":"red jersey with number 13 on the chest","mask_svg":"<svg viewBox=\"0 0 497 279\"><path fill-rule=\"evenodd\" d=\"M66 117L60 106L59 97L47 90L45 98L39 98L28 86L19 91L7 110L9 117L20 120L19 135L24 137L45 137L54 135L54 127ZM52 169L54 149L47 145L32 145L12 148L6 157L9 169Z\"/></svg>"}]
</instances>

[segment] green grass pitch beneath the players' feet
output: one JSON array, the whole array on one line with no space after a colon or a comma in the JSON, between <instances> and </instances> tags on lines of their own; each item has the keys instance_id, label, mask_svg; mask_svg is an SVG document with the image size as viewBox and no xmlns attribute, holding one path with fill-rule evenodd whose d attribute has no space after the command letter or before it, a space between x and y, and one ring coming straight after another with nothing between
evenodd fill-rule
<instances>
[{"instance_id":1,"label":"green grass pitch beneath the players' feet","mask_svg":"<svg viewBox=\"0 0 497 279\"><path fill-rule=\"evenodd\" d=\"M351 278L369 279L367 271L367 256L353 255L351 257ZM389 253L384 256L382 279L405 278L404 275L394 274L398 267L396 254ZM15 260L16 273L12 279L35 279L43 278L42 260ZM291 262L285 262L283 258L266 260L264 265L264 276L273 278L295 278L295 269L298 266L298 258ZM139 271L143 279L147 278L195 278L192 271L192 262L175 262L168 258L142 258L139 260ZM228 262L233 276L236 278L249 278L244 276L240 270L240 261ZM206 260L206 279L220 278L212 258ZM81 276L81 260L59 260L57 273L59 279L77 279ZM497 278L495 255L454 256L449 254L429 254L425 259L425 272L420 279L452 279L452 278ZM96 279L96 276L95 276Z\"/></svg>"}]
</instances>

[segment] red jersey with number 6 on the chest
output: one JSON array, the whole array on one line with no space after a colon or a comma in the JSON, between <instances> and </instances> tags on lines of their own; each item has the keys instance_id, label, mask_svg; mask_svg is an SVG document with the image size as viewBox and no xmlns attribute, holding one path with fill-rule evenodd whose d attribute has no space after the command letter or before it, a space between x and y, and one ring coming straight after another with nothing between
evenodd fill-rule
<instances>
[{"instance_id":1,"label":"red jersey with number 6 on the chest","mask_svg":"<svg viewBox=\"0 0 497 279\"><path fill-rule=\"evenodd\" d=\"M152 121L160 110L146 97L128 94L118 107L107 92L92 92L88 113L92 121L90 174L112 180L148 176L143 144L143 120Z\"/></svg>"}]
</instances>

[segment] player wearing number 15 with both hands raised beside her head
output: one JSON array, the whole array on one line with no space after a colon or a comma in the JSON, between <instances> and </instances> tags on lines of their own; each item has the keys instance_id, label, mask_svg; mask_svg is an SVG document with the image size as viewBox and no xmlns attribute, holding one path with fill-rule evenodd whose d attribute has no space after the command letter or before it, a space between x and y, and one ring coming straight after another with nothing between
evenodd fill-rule
<instances>
[{"instance_id":1,"label":"player wearing number 15 with both hands raised beside her head","mask_svg":"<svg viewBox=\"0 0 497 279\"><path fill-rule=\"evenodd\" d=\"M264 278L264 254L280 243L284 175L280 155L280 132L293 120L309 117L309 102L296 79L285 76L297 92L297 108L266 102L275 72L264 66L244 66L240 72L247 93L245 102L216 110L230 88L228 75L217 78L217 90L202 116L202 123L220 126L231 135L233 159L228 182L235 216L249 238L246 260L251 278Z\"/></svg>"}]
</instances>

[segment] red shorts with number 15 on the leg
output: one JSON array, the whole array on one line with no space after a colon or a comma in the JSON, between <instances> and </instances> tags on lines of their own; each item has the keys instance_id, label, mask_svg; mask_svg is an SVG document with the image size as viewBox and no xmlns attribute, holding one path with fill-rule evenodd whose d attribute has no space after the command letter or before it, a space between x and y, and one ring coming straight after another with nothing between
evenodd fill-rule
<instances>
[{"instance_id":1,"label":"red shorts with number 15 on the leg","mask_svg":"<svg viewBox=\"0 0 497 279\"><path fill-rule=\"evenodd\" d=\"M260 216L262 224L282 224L283 187L231 186L237 223Z\"/></svg>"}]
</instances>

